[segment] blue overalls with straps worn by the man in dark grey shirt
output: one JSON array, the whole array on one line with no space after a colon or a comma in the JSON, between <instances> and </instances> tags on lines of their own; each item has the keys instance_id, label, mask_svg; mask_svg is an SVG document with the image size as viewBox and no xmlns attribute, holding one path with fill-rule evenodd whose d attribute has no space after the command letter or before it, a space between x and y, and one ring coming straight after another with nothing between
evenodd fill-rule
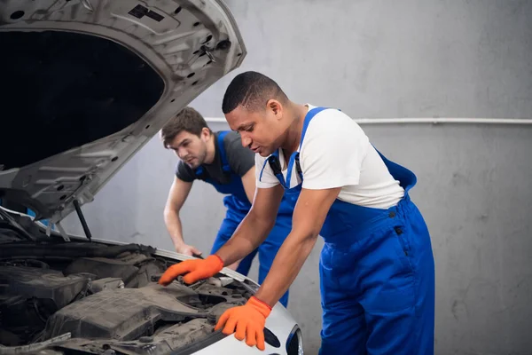
<instances>
[{"instance_id":1,"label":"blue overalls with straps worn by the man in dark grey shirt","mask_svg":"<svg viewBox=\"0 0 532 355\"><path fill-rule=\"evenodd\" d=\"M214 254L219 248L222 248L226 241L231 239L232 234L235 232L244 217L246 217L249 209L251 209L251 203L247 199L246 190L244 189L244 185L242 185L242 178L231 171L231 167L227 160L227 154L225 154L223 138L227 133L228 131L222 131L218 134L217 147L220 152L223 171L230 175L230 182L227 184L220 184L210 177L204 179L205 182L213 185L216 191L219 193L228 194L223 198L223 205L227 208L227 212L216 235L215 242L211 249L211 254ZM194 172L196 177L200 178L203 174L203 168L199 167ZM251 254L240 261L237 272L247 276L254 256L258 252L260 263L258 282L259 284L262 284L263 280L266 278L266 275L270 271L271 264L273 264L273 259L277 255L278 249L281 248L283 241L285 241L288 233L290 233L292 229L292 214L293 204L291 204L291 200L286 198L283 199L278 210L276 224L273 226L270 234L266 240L262 242L259 248L255 249ZM288 294L289 292L286 291L285 295L283 295L279 300L279 302L285 307L288 304Z\"/></svg>"}]
</instances>

